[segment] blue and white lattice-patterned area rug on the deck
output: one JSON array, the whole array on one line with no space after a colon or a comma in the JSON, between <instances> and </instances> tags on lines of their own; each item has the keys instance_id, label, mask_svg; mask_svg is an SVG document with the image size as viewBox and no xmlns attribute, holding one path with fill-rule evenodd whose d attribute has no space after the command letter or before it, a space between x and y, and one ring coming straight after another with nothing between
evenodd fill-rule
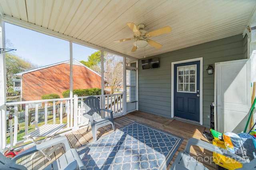
<instances>
[{"instance_id":1,"label":"blue and white lattice-patterned area rug on the deck","mask_svg":"<svg viewBox=\"0 0 256 170\"><path fill-rule=\"evenodd\" d=\"M162 170L182 140L134 122L77 150L86 170Z\"/></svg>"}]
</instances>

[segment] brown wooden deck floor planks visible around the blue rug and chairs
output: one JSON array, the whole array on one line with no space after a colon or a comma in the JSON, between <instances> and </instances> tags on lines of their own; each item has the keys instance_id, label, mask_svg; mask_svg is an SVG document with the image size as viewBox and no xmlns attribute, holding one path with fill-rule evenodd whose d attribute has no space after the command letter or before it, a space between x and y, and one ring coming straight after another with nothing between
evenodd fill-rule
<instances>
[{"instance_id":1,"label":"brown wooden deck floor planks visible around the blue rug and chairs","mask_svg":"<svg viewBox=\"0 0 256 170\"><path fill-rule=\"evenodd\" d=\"M175 153L174 158L172 158L168 169L172 165L174 159L176 158L179 151L184 150L186 143L190 137L194 137L196 139L200 139L202 141L208 141L202 136L202 132L208 131L210 132L210 129L206 129L202 126L192 125L190 123L184 123L181 121L177 121L174 119L168 119L165 117L160 117L157 115L152 115L149 113L144 113L140 111L134 111L132 113L128 113L125 116L118 117L114 119L115 127L116 129L120 129L121 127L124 127L132 122L138 122L142 123L144 125L148 125L150 127L154 127L156 129L159 129L161 131L165 131L167 133L171 133L173 135L182 137L184 140L182 141L182 144L178 148L178 151ZM92 132L91 129L86 132L86 129L80 129L76 132L68 133L66 134L66 137L68 138L68 141L70 142L70 145L72 148L78 148L82 145L85 145L88 142L91 142L92 139ZM98 129L98 138L102 135L106 135L108 133L112 132L111 126L106 126L104 128ZM58 151L54 152L50 157L52 160L55 158L58 158L61 153L64 152L63 148L60 148ZM192 147L190 149L190 152L193 156L198 158L199 160L204 160L204 165L209 168L210 170L216 170L216 165L214 162L212 162L212 152L208 150L204 150L199 147ZM28 158L24 158L21 162L21 164L24 164L26 167L32 170L39 170L44 168L49 164L47 159L42 158L43 156L38 154L38 156L35 156L32 161L29 161Z\"/></svg>"}]
</instances>

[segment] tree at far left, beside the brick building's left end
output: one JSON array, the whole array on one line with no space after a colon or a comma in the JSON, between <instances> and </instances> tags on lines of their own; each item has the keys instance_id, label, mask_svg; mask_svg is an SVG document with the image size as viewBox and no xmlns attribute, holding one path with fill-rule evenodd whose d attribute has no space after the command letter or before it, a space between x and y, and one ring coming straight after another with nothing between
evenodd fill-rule
<instances>
[{"instance_id":1,"label":"tree at far left, beside the brick building's left end","mask_svg":"<svg viewBox=\"0 0 256 170\"><path fill-rule=\"evenodd\" d=\"M10 92L10 88L13 87L12 80L15 78L14 74L35 68L35 65L9 52L6 53L5 60L6 60L6 91Z\"/></svg>"}]
</instances>

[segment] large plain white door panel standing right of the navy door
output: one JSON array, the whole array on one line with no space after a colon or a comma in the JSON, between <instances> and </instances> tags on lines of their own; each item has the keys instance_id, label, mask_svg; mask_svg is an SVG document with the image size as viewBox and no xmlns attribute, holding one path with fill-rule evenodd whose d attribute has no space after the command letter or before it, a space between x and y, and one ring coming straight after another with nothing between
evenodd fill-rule
<instances>
[{"instance_id":1,"label":"large plain white door panel standing right of the navy door","mask_svg":"<svg viewBox=\"0 0 256 170\"><path fill-rule=\"evenodd\" d=\"M216 130L242 132L251 106L250 59L215 63L214 82Z\"/></svg>"}]
</instances>

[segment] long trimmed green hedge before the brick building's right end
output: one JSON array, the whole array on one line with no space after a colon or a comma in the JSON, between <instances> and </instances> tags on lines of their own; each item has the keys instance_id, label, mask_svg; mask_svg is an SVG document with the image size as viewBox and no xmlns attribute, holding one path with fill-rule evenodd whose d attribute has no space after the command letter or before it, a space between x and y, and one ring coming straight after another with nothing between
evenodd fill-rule
<instances>
[{"instance_id":1,"label":"long trimmed green hedge before the brick building's right end","mask_svg":"<svg viewBox=\"0 0 256 170\"><path fill-rule=\"evenodd\" d=\"M100 88L88 88L88 89L75 89L73 90L73 95L76 94L77 96L96 96L101 95ZM70 97L70 90L67 90L62 93L64 98Z\"/></svg>"}]
</instances>

